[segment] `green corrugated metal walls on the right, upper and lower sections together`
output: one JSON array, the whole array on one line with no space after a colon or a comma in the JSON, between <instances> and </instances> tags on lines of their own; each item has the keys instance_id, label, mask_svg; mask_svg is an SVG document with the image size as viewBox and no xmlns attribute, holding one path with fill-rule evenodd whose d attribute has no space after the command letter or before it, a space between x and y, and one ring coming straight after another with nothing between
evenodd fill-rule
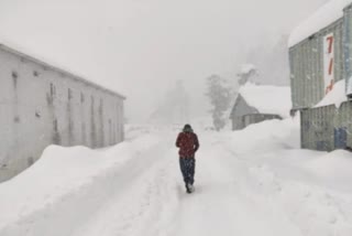
<instances>
[{"instance_id":1,"label":"green corrugated metal walls on the right, upper and lower sections together","mask_svg":"<svg viewBox=\"0 0 352 236\"><path fill-rule=\"evenodd\" d=\"M334 35L334 81L346 78L352 94L352 4L344 15L289 50L294 110L301 111L301 147L332 151L352 148L352 100L311 108L324 96L323 39ZM351 79L350 79L351 78Z\"/></svg>"}]
</instances>

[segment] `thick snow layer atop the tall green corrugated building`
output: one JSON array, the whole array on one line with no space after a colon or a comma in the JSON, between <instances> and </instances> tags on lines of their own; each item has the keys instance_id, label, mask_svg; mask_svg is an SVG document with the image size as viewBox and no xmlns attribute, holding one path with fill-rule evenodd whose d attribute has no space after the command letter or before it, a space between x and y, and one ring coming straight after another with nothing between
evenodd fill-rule
<instances>
[{"instance_id":1,"label":"thick snow layer atop the tall green corrugated building","mask_svg":"<svg viewBox=\"0 0 352 236\"><path fill-rule=\"evenodd\" d=\"M288 40L288 46L292 47L296 45L329 24L341 19L343 17L343 9L351 2L351 0L330 0L327 2L316 13L314 13L293 31Z\"/></svg>"}]
</instances>

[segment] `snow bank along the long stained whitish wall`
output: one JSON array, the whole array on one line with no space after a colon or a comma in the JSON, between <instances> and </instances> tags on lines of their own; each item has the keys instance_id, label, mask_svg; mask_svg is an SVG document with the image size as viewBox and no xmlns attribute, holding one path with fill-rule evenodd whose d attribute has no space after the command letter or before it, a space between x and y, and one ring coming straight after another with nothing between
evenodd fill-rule
<instances>
[{"instance_id":1,"label":"snow bank along the long stained whitish wall","mask_svg":"<svg viewBox=\"0 0 352 236\"><path fill-rule=\"evenodd\" d=\"M141 135L130 142L102 150L48 147L33 167L0 184L0 235L7 235L8 230L24 235L26 224L50 221L46 214L52 215L54 224L66 227L74 224L72 217L89 215L89 211L97 207L95 200L108 199L114 191L109 186L111 176L158 141L157 136ZM72 207L77 212L67 214ZM50 225L41 230L50 230Z\"/></svg>"}]
</instances>

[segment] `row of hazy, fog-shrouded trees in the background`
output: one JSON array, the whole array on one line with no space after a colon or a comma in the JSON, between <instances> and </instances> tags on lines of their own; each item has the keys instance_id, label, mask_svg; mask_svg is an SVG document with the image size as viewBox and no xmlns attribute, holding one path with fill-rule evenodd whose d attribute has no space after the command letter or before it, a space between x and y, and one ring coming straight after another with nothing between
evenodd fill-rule
<instances>
[{"instance_id":1,"label":"row of hazy, fog-shrouded trees in the background","mask_svg":"<svg viewBox=\"0 0 352 236\"><path fill-rule=\"evenodd\" d=\"M231 77L213 74L204 79L202 87L189 86L186 78L177 81L158 100L158 105L150 116L150 121L175 125L191 122L194 109L199 110L199 105L193 100L194 94L202 93L206 96L205 105L208 103L208 107L210 107L210 109L208 108L208 117L211 117L213 129L223 129L229 121L240 86L246 83L288 85L286 42L287 37L283 36L272 46L263 42L262 45L253 47L252 51L245 54L245 57L239 60L243 63L234 66L233 71L235 73ZM208 122L207 125L209 126L210 124Z\"/></svg>"}]
</instances>

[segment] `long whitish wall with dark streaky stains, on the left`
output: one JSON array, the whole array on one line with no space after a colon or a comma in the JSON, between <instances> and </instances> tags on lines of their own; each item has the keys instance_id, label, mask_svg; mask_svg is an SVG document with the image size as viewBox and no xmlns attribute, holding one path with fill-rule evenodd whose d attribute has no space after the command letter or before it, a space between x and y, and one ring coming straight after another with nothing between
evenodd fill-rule
<instances>
[{"instance_id":1,"label":"long whitish wall with dark streaky stains, on the left","mask_svg":"<svg viewBox=\"0 0 352 236\"><path fill-rule=\"evenodd\" d=\"M118 94L0 46L0 181L52 143L101 148L123 140Z\"/></svg>"}]
</instances>

